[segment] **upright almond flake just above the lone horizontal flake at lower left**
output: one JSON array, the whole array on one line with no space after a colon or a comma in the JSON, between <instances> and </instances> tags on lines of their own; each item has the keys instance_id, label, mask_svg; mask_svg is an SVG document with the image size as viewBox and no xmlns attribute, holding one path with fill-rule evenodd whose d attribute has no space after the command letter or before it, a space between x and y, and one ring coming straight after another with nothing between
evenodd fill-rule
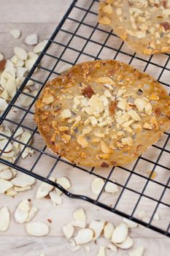
<instances>
[{"instance_id":1,"label":"upright almond flake just above the lone horizontal flake at lower left","mask_svg":"<svg viewBox=\"0 0 170 256\"><path fill-rule=\"evenodd\" d=\"M18 204L18 207L15 210L15 214L14 214L15 221L18 223L26 222L26 219L28 218L28 212L29 212L29 202L28 200L22 200Z\"/></svg>"}]
</instances>

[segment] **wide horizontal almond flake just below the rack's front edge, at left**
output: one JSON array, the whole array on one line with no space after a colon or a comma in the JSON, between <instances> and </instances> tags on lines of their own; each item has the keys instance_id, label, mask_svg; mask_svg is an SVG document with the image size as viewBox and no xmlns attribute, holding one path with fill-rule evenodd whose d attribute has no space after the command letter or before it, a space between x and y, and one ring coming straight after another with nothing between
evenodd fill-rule
<instances>
[{"instance_id":1,"label":"wide horizontal almond flake just below the rack's front edge, at left","mask_svg":"<svg viewBox=\"0 0 170 256\"><path fill-rule=\"evenodd\" d=\"M12 184L16 187L26 187L35 183L35 178L26 174L18 174L16 178L12 179Z\"/></svg>"}]
</instances>

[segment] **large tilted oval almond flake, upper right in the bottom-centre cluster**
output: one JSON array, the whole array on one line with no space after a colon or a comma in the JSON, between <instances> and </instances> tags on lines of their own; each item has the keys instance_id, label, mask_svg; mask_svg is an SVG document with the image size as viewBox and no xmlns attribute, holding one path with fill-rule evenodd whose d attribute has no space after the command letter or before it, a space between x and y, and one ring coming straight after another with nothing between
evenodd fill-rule
<instances>
[{"instance_id":1,"label":"large tilted oval almond flake, upper right in the bottom-centre cluster","mask_svg":"<svg viewBox=\"0 0 170 256\"><path fill-rule=\"evenodd\" d=\"M128 236L128 225L121 222L119 225L115 227L112 233L112 243L113 244L121 244L125 241L125 238Z\"/></svg>"}]
</instances>

